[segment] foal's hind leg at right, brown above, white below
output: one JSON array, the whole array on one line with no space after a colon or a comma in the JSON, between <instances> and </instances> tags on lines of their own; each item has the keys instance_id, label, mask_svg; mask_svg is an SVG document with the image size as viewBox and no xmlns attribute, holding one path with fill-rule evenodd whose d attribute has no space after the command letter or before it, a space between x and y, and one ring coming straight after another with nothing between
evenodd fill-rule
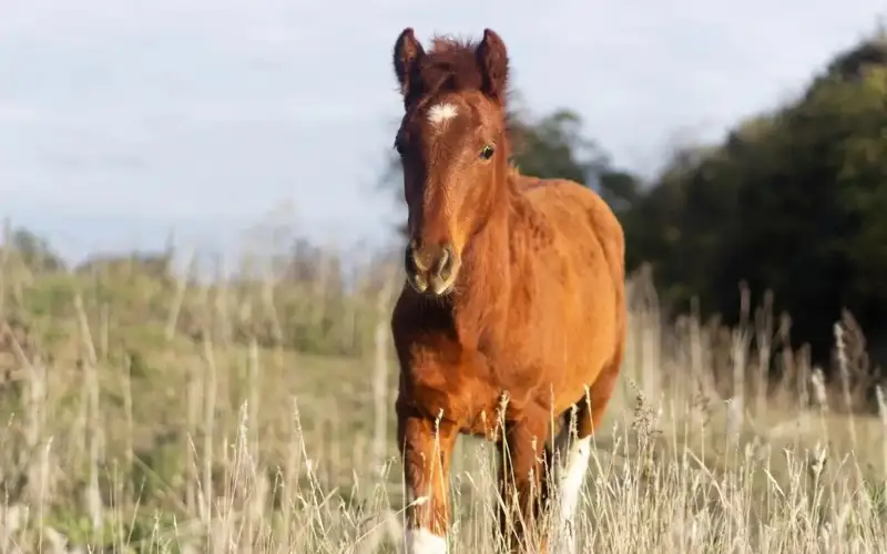
<instances>
[{"instance_id":1,"label":"foal's hind leg at right, brown above, white below","mask_svg":"<svg viewBox=\"0 0 887 554\"><path fill-rule=\"evenodd\" d=\"M559 459L555 462L555 475L560 500L557 506L560 507L560 512L552 553L577 552L575 516L579 495L591 461L591 435L603 419L621 365L620 353L614 362L601 372L589 389L588 396L577 403L575 411L570 410L564 414L563 425L554 439L554 450Z\"/></svg>"}]
</instances>

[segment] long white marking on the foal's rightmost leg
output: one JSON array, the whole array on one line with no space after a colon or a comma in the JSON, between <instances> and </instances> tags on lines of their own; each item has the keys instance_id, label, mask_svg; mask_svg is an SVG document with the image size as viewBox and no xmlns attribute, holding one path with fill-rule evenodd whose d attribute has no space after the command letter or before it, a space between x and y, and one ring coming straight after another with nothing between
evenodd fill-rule
<instances>
[{"instance_id":1,"label":"long white marking on the foal's rightmost leg","mask_svg":"<svg viewBox=\"0 0 887 554\"><path fill-rule=\"evenodd\" d=\"M555 441L561 458L558 475L561 502L560 525L552 552L564 554L575 552L575 512L591 461L591 437L573 438L568 445L569 433L569 425L564 425Z\"/></svg>"}]
</instances>

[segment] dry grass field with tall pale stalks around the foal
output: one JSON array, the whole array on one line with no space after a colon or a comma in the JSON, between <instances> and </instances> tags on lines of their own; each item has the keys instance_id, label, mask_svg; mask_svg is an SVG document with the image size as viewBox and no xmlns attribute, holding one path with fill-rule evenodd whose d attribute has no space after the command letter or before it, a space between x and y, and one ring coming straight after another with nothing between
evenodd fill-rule
<instances>
[{"instance_id":1,"label":"dry grass field with tall pale stalks around the foal","mask_svg":"<svg viewBox=\"0 0 887 554\"><path fill-rule=\"evenodd\" d=\"M0 261L0 552L396 552L392 274L346 291ZM852 322L825 382L766 310L665 326L631 285L582 552L887 552L887 407ZM491 455L459 443L453 552L496 551Z\"/></svg>"}]
</instances>

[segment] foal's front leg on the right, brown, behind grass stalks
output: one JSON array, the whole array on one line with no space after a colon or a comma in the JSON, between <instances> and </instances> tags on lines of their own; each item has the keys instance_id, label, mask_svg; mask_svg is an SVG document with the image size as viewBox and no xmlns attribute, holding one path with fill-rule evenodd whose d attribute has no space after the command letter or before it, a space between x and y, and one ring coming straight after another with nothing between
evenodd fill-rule
<instances>
[{"instance_id":1,"label":"foal's front leg on the right, brown, behind grass stalks","mask_svg":"<svg viewBox=\"0 0 887 554\"><path fill-rule=\"evenodd\" d=\"M548 499L546 441L549 429L543 417L506 424L500 452L500 529L511 552L546 552L540 533L542 507Z\"/></svg>"}]
</instances>

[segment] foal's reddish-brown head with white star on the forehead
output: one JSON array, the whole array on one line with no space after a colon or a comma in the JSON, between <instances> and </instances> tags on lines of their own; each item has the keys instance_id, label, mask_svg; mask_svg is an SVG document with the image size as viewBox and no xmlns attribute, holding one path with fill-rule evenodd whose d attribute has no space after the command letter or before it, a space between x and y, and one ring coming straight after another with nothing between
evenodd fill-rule
<instances>
[{"instance_id":1,"label":"foal's reddish-brown head with white star on the forehead","mask_svg":"<svg viewBox=\"0 0 887 554\"><path fill-rule=\"evenodd\" d=\"M407 278L443 296L466 245L506 202L508 53L489 29L477 44L437 39L428 52L405 29L394 65L405 107L395 147L409 211Z\"/></svg>"}]
</instances>

